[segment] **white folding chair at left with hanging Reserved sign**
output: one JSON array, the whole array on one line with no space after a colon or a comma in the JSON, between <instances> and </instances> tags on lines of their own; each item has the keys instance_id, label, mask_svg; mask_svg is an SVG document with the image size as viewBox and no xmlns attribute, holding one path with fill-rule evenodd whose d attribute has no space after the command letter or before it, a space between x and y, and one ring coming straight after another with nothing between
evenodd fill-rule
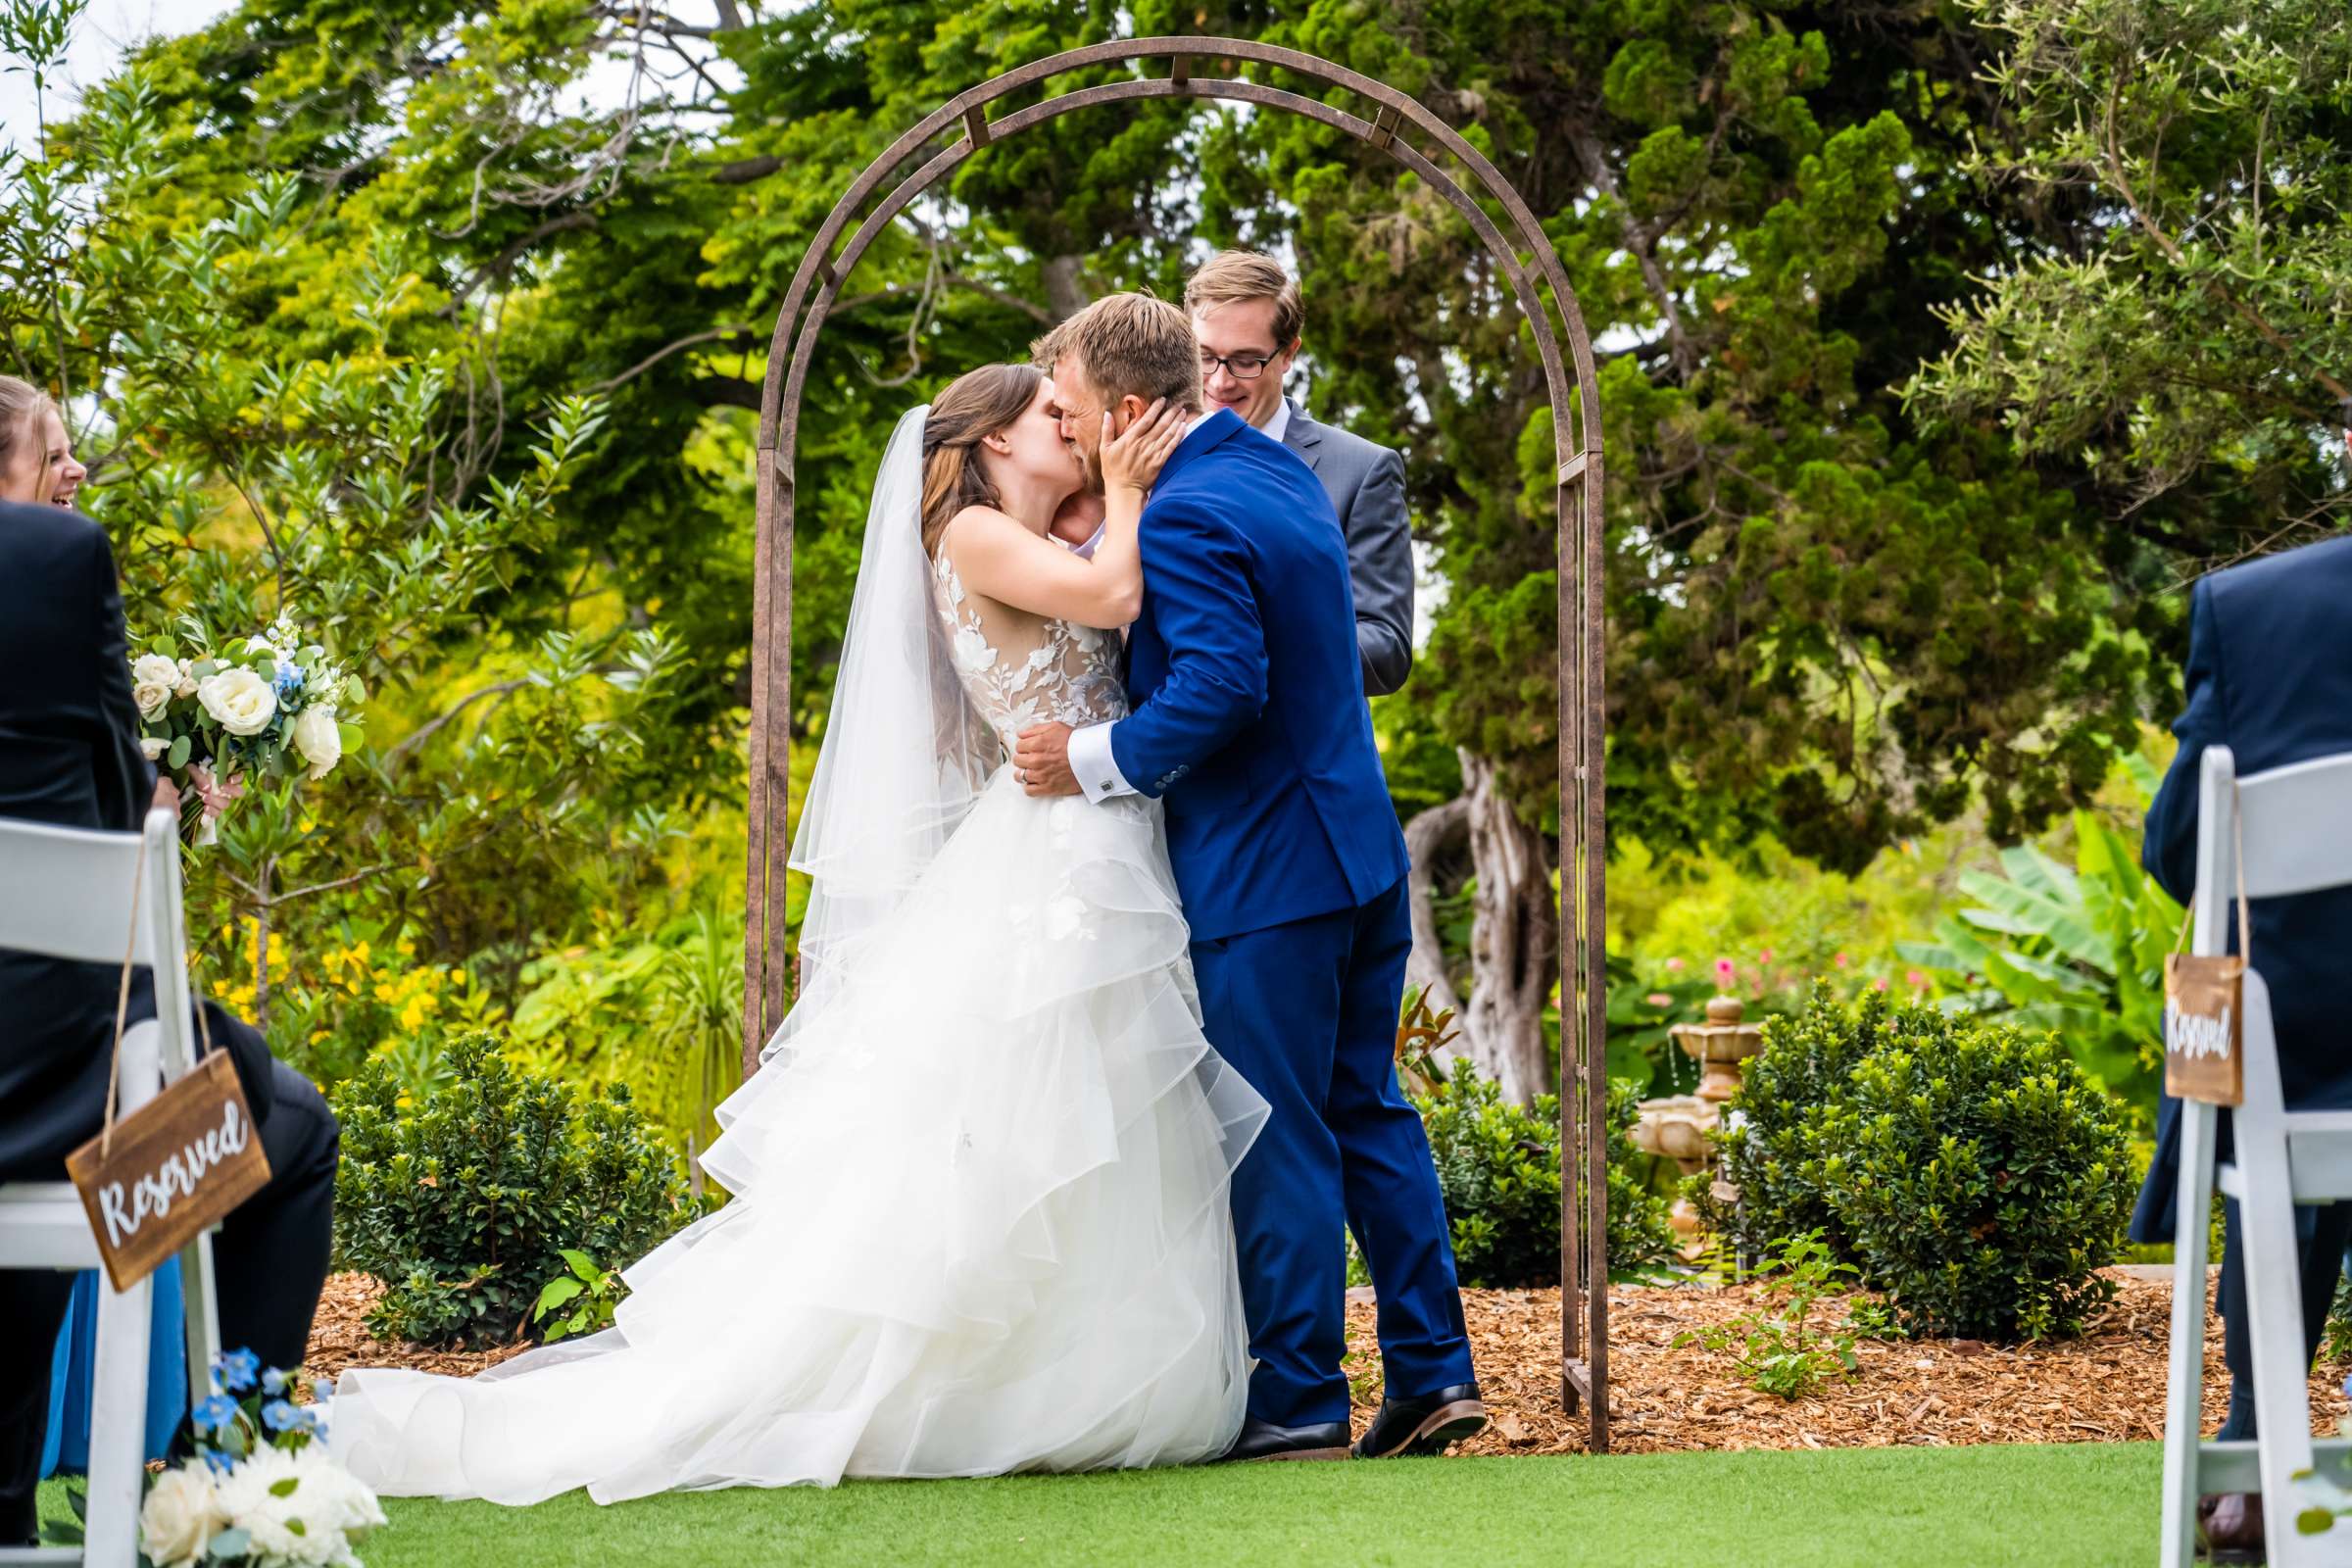
<instances>
[{"instance_id":1,"label":"white folding chair at left with hanging Reserved sign","mask_svg":"<svg viewBox=\"0 0 2352 1568\"><path fill-rule=\"evenodd\" d=\"M139 844L146 839L146 858ZM132 889L139 889L136 929ZM118 1117L139 1110L195 1065L188 957L179 893L179 823L151 811L141 832L82 832L0 818L0 947L155 973L155 1020L122 1034ZM7 1027L0 1020L0 1027ZM0 1117L7 1110L0 1107ZM73 1182L0 1185L0 1269L96 1269L99 1244ZM181 1253L188 1307L188 1387L202 1399L221 1349L212 1239ZM82 1547L0 1549L5 1563L139 1561L139 1481L146 1469L148 1314L153 1279L115 1293L99 1276L96 1387L89 1413L89 1516Z\"/></svg>"}]
</instances>

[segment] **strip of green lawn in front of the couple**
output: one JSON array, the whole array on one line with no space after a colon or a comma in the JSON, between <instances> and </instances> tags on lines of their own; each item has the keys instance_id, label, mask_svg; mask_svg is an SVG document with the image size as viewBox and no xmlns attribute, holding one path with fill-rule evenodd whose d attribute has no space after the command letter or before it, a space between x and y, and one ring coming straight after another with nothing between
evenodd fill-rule
<instances>
[{"instance_id":1,"label":"strip of green lawn in front of the couple","mask_svg":"<svg viewBox=\"0 0 2352 1568\"><path fill-rule=\"evenodd\" d=\"M390 1502L369 1568L1011 1563L1094 1568L2138 1568L2154 1443L1254 1465L727 1490L600 1509ZM54 1488L45 1505L64 1507Z\"/></svg>"}]
</instances>

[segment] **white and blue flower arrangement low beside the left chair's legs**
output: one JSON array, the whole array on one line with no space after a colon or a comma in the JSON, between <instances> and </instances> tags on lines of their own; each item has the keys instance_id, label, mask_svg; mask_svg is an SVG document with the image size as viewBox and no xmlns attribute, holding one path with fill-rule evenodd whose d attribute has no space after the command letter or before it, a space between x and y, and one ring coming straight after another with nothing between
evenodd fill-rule
<instances>
[{"instance_id":1,"label":"white and blue flower arrangement low beside the left chair's legs","mask_svg":"<svg viewBox=\"0 0 2352 1568\"><path fill-rule=\"evenodd\" d=\"M191 1418L195 1458L155 1476L139 1509L143 1568L362 1568L353 1544L386 1519L376 1493L327 1455L327 1385L320 1403L296 1406L287 1373L233 1349L214 1389Z\"/></svg>"}]
</instances>

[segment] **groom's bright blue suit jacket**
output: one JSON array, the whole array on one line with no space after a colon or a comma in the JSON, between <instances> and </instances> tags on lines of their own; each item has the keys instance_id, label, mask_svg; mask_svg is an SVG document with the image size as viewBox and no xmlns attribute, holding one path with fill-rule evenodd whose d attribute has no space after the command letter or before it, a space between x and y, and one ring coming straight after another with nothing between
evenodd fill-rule
<instances>
[{"instance_id":1,"label":"groom's bright blue suit jacket","mask_svg":"<svg viewBox=\"0 0 2352 1568\"><path fill-rule=\"evenodd\" d=\"M1120 773L1167 802L1200 940L1331 914L1395 886L1388 802L1355 646L1348 541L1294 451L1218 411L1143 508L1143 614Z\"/></svg>"}]
</instances>

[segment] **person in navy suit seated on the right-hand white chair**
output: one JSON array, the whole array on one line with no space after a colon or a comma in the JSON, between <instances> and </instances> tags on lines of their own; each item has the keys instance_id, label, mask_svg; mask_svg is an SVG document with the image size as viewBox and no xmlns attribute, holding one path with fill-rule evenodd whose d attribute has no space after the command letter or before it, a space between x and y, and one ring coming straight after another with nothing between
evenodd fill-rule
<instances>
[{"instance_id":1,"label":"person in navy suit seated on the right-hand white chair","mask_svg":"<svg viewBox=\"0 0 2352 1568\"><path fill-rule=\"evenodd\" d=\"M2147 809L2140 860L2180 903L2197 882L2197 778L2204 750L2227 745L2239 778L2352 752L2352 538L2286 550L2216 571L2190 592L2187 708L2173 724L2180 752ZM2352 1039L2343 1025L2343 987L2352 964L2352 889L2258 898L2251 910L2253 966L2270 985L2279 1037L2279 1079L2288 1110L2352 1110ZM2237 924L2230 924L2232 950ZM2230 1157L2230 1114L2220 1114L2220 1159ZM2171 1241L2180 1166L2180 1103L2157 1114L2157 1157L2147 1168L2133 1241ZM2223 1359L2230 1366L2230 1415L2220 1434L2251 1439L2253 1352L2246 1338L2246 1276L2237 1201L2225 1201L2220 1265ZM2303 1248L2303 1335L2319 1331L2336 1295L2352 1204L2296 1211ZM2263 1514L2246 1497L2206 1502L2216 1554L2258 1552ZM2256 1561L2256 1559L2249 1559Z\"/></svg>"}]
</instances>

